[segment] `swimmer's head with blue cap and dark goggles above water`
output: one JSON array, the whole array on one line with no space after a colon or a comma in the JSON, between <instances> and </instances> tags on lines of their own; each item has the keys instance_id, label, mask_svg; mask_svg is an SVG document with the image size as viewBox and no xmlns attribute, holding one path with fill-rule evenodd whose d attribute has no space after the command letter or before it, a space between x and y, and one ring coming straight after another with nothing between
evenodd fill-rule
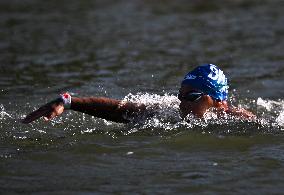
<instances>
[{"instance_id":1,"label":"swimmer's head with blue cap and dark goggles above water","mask_svg":"<svg viewBox=\"0 0 284 195\"><path fill-rule=\"evenodd\" d=\"M185 75L181 83L178 95L181 117L190 113L203 117L211 108L226 111L228 88L226 76L216 65L198 66Z\"/></svg>"}]
</instances>

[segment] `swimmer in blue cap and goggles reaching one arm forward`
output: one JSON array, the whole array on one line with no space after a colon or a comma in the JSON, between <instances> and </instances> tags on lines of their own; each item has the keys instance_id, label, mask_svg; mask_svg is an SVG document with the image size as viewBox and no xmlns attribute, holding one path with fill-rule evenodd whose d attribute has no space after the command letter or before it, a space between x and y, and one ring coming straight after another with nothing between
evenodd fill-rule
<instances>
[{"instance_id":1,"label":"swimmer in blue cap and goggles reaching one arm forward","mask_svg":"<svg viewBox=\"0 0 284 195\"><path fill-rule=\"evenodd\" d=\"M228 88L226 76L216 65L206 64L196 67L186 74L181 82L178 94L181 118L185 118L188 114L202 118L210 111L220 117L228 114L244 119L255 119L256 116L252 112L228 105ZM144 104L106 97L71 97L70 94L65 93L28 114L22 119L22 123L31 123L40 117L49 121L65 110L78 111L119 123L128 123L133 118L145 114L151 116L151 111Z\"/></svg>"}]
</instances>

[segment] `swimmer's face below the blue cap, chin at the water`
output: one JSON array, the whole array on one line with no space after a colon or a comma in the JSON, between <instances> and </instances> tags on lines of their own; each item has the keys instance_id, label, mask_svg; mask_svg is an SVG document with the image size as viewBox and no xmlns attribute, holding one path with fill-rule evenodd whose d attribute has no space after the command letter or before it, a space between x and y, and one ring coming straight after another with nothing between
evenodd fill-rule
<instances>
[{"instance_id":1,"label":"swimmer's face below the blue cap, chin at the water","mask_svg":"<svg viewBox=\"0 0 284 195\"><path fill-rule=\"evenodd\" d=\"M195 101L182 98L191 92L199 92L199 90L192 88L189 85L182 85L179 90L179 96L181 97L179 108L182 118L186 117L189 113L201 118L209 108L218 106L216 105L216 101L214 101L209 95L205 94L201 95Z\"/></svg>"}]
</instances>

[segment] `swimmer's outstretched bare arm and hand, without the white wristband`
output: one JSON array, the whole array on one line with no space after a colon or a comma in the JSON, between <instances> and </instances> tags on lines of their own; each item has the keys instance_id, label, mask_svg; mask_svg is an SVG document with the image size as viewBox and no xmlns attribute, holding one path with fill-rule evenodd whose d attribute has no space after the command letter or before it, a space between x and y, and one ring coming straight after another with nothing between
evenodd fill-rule
<instances>
[{"instance_id":1,"label":"swimmer's outstretched bare arm and hand, without the white wristband","mask_svg":"<svg viewBox=\"0 0 284 195\"><path fill-rule=\"evenodd\" d=\"M127 123L130 122L130 118L145 111L146 106L104 97L72 97L70 110L83 112L114 122ZM22 120L22 123L31 123L40 117L44 117L48 121L61 115L63 111L63 101L61 98L58 98L28 114Z\"/></svg>"}]
</instances>

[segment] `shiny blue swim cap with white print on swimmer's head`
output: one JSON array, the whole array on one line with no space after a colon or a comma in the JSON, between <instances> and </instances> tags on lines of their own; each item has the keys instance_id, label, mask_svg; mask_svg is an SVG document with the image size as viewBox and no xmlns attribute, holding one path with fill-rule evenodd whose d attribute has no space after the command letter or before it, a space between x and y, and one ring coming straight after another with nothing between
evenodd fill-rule
<instances>
[{"instance_id":1,"label":"shiny blue swim cap with white print on swimmer's head","mask_svg":"<svg viewBox=\"0 0 284 195\"><path fill-rule=\"evenodd\" d=\"M190 85L216 100L227 100L228 83L223 71L214 64L198 66L185 75L182 85Z\"/></svg>"}]
</instances>

